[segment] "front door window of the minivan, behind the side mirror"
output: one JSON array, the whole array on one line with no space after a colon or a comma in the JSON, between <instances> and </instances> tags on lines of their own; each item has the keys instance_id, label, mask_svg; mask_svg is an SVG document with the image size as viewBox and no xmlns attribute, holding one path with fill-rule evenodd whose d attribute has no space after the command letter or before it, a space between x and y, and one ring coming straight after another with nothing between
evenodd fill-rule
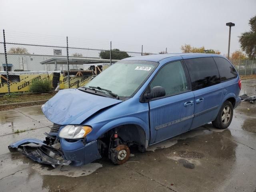
<instances>
[{"instance_id":1,"label":"front door window of the minivan, behind the side mirror","mask_svg":"<svg viewBox=\"0 0 256 192\"><path fill-rule=\"evenodd\" d=\"M152 89L154 86L162 86L165 89L166 95L188 90L182 63L176 61L166 64L151 82L150 88Z\"/></svg>"}]
</instances>

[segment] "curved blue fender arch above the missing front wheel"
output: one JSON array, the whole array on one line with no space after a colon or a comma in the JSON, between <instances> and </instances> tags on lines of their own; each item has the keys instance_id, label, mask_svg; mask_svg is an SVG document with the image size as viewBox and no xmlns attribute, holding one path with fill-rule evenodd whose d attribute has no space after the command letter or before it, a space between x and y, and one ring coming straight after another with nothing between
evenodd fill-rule
<instances>
[{"instance_id":1,"label":"curved blue fender arch above the missing front wheel","mask_svg":"<svg viewBox=\"0 0 256 192\"><path fill-rule=\"evenodd\" d=\"M140 126L144 130L144 133L146 135L146 140L149 139L149 127L146 124L146 122L142 121L140 118L137 118L137 117L124 117L124 118L118 118L116 120L108 122L107 124L102 126L102 128L100 128L98 132L96 132L96 134L93 134L93 136L90 136L89 134L87 138L88 142L98 139L102 134L108 132L112 128L115 128L121 125L127 125L127 124L135 124Z\"/></svg>"}]
</instances>

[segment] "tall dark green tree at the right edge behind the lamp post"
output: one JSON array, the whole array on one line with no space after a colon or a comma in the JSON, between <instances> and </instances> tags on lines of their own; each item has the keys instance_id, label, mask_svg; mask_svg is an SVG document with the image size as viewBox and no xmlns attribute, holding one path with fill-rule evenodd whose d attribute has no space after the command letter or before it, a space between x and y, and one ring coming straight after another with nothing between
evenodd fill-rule
<instances>
[{"instance_id":1,"label":"tall dark green tree at the right edge behind the lamp post","mask_svg":"<svg viewBox=\"0 0 256 192\"><path fill-rule=\"evenodd\" d=\"M256 16L249 20L251 30L244 32L239 37L241 48L249 59L256 58Z\"/></svg>"}]
</instances>

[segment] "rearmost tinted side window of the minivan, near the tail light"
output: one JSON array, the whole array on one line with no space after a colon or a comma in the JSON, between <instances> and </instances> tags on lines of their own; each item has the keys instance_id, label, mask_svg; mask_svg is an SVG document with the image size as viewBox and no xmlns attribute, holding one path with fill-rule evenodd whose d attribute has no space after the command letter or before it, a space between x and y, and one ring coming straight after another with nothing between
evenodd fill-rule
<instances>
[{"instance_id":1,"label":"rearmost tinted side window of the minivan, near the tail light","mask_svg":"<svg viewBox=\"0 0 256 192\"><path fill-rule=\"evenodd\" d=\"M228 62L228 60L222 57L214 57L214 61L216 62L217 67L219 69L221 81L237 77L235 68L232 66L230 62Z\"/></svg>"}]
</instances>

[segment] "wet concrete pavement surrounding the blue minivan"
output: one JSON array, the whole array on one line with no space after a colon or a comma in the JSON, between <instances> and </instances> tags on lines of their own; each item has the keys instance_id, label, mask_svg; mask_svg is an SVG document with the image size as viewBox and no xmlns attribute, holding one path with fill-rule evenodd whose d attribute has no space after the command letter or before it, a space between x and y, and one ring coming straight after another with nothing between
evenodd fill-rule
<instances>
[{"instance_id":1,"label":"wet concrete pavement surrounding the blue minivan","mask_svg":"<svg viewBox=\"0 0 256 192\"><path fill-rule=\"evenodd\" d=\"M244 93L256 95L256 79L242 81ZM144 153L132 149L118 166L101 159L54 169L9 152L22 138L44 139L51 125L40 106L0 111L0 192L256 192L255 103L242 102L226 130L206 124Z\"/></svg>"}]
</instances>

